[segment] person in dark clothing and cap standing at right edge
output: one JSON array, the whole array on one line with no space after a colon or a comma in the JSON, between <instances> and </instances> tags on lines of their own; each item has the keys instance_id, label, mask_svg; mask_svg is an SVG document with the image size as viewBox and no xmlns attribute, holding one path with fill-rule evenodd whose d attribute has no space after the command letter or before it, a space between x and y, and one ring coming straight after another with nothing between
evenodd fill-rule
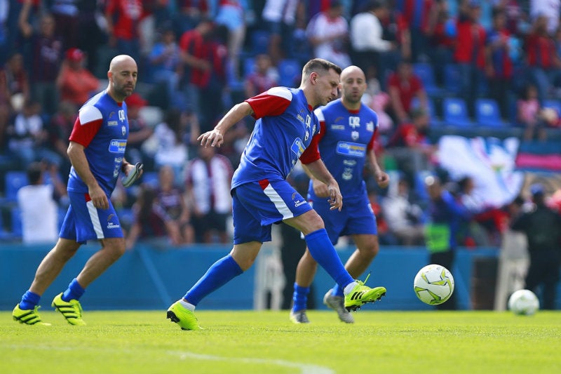
<instances>
[{"instance_id":1,"label":"person in dark clothing and cap standing at right edge","mask_svg":"<svg viewBox=\"0 0 561 374\"><path fill-rule=\"evenodd\" d=\"M561 265L561 215L546 205L543 185L531 185L530 193L532 210L515 217L511 228L527 236L530 265L525 288L540 295L541 286L541 309L555 309Z\"/></svg>"}]
</instances>

